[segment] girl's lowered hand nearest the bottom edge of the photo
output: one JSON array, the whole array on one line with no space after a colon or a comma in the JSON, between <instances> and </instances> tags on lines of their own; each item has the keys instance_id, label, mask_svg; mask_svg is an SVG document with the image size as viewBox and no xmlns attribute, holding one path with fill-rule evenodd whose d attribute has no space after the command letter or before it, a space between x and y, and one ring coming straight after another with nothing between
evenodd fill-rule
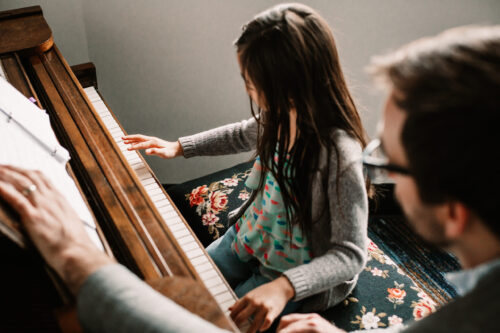
<instances>
[{"instance_id":1,"label":"girl's lowered hand nearest the bottom edge of the photo","mask_svg":"<svg viewBox=\"0 0 500 333\"><path fill-rule=\"evenodd\" d=\"M284 276L279 277L255 288L234 303L229 308L231 318L240 326L253 315L253 323L248 332L267 330L294 295L295 290L290 281Z\"/></svg>"}]
</instances>

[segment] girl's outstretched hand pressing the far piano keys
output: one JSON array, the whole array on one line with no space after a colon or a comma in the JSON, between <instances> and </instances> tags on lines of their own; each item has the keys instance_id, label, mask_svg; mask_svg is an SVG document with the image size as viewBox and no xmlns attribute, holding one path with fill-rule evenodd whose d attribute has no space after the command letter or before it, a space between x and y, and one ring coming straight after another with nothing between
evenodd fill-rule
<instances>
[{"instance_id":1,"label":"girl's outstretched hand pressing the far piano keys","mask_svg":"<svg viewBox=\"0 0 500 333\"><path fill-rule=\"evenodd\" d=\"M183 155L182 146L179 141L165 141L154 136L142 134L131 134L122 137L123 143L130 145L128 150L146 149L146 155L156 155L169 159Z\"/></svg>"}]
</instances>

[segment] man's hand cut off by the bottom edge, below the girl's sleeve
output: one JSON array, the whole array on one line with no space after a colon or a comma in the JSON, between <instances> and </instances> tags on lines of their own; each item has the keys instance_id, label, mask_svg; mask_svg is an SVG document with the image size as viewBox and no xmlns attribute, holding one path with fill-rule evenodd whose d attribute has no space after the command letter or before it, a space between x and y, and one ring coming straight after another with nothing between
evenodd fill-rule
<instances>
[{"instance_id":1,"label":"man's hand cut off by the bottom edge, below the girl's sleeve","mask_svg":"<svg viewBox=\"0 0 500 333\"><path fill-rule=\"evenodd\" d=\"M292 313L281 318L279 333L346 333L317 313Z\"/></svg>"}]
</instances>

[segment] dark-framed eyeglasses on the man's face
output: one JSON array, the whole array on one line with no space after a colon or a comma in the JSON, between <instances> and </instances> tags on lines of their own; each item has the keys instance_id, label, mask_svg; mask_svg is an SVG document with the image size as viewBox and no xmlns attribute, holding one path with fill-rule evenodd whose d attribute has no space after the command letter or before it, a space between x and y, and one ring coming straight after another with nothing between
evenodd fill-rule
<instances>
[{"instance_id":1,"label":"dark-framed eyeglasses on the man's face","mask_svg":"<svg viewBox=\"0 0 500 333\"><path fill-rule=\"evenodd\" d=\"M363 150L363 165L368 178L373 182L384 182L389 179L389 172L410 175L410 170L389 163L389 158L382 149L380 139L372 140Z\"/></svg>"}]
</instances>

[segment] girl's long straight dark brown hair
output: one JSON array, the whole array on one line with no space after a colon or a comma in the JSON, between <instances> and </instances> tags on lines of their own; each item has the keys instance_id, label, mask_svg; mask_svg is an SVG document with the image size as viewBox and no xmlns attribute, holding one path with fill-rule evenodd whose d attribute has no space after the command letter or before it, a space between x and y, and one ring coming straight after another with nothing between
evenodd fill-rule
<instances>
[{"instance_id":1,"label":"girl's long straight dark brown hair","mask_svg":"<svg viewBox=\"0 0 500 333\"><path fill-rule=\"evenodd\" d=\"M255 111L250 100L252 114L261 125L256 155L263 169L272 172L279 184L288 227L298 224L304 235L309 235L313 222L311 175L318 170L322 147L337 152L339 175L340 159L332 130L343 129L362 147L366 145L332 32L311 8L284 4L246 24L235 45L243 76L265 104L260 105L264 110L258 106ZM292 109L297 112L297 133L290 147ZM264 173L250 200L263 187Z\"/></svg>"}]
</instances>

